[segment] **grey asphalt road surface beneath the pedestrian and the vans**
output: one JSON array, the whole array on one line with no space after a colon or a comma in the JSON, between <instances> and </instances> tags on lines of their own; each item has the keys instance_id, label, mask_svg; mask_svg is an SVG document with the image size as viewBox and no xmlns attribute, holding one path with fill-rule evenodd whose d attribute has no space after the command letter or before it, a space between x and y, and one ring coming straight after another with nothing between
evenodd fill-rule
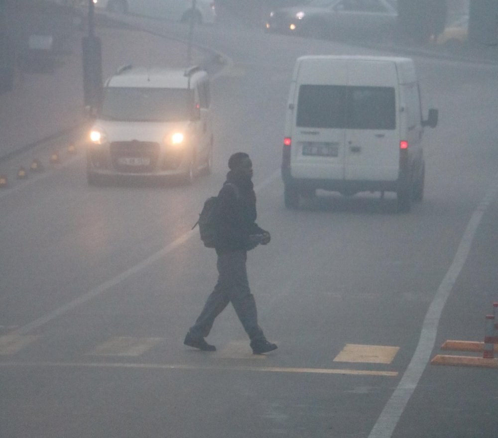
<instances>
[{"instance_id":1,"label":"grey asphalt road surface beneath the pedestrian and the vans","mask_svg":"<svg viewBox=\"0 0 498 438\"><path fill-rule=\"evenodd\" d=\"M89 187L80 139L0 192L1 437L496 437L496 368L430 364L447 339L482 341L498 298L496 67L414 56L440 122L410 214L394 197L325 192L289 211L279 164L295 58L382 52L216 27L196 39L227 60L213 71L213 175ZM264 356L231 308L208 338L217 352L182 345L216 281L191 227L238 150L272 233L248 262L279 345Z\"/></svg>"}]
</instances>

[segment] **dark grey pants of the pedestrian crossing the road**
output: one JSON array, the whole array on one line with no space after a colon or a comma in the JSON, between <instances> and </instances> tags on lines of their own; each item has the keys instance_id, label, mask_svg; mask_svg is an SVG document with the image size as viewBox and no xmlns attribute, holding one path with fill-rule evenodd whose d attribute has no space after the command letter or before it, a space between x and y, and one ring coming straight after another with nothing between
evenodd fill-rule
<instances>
[{"instance_id":1,"label":"dark grey pants of the pedestrian crossing the road","mask_svg":"<svg viewBox=\"0 0 498 438\"><path fill-rule=\"evenodd\" d=\"M218 282L195 325L190 328L193 337L206 337L215 318L232 303L249 339L264 339L263 331L257 325L256 303L249 289L246 260L246 251L218 254Z\"/></svg>"}]
</instances>

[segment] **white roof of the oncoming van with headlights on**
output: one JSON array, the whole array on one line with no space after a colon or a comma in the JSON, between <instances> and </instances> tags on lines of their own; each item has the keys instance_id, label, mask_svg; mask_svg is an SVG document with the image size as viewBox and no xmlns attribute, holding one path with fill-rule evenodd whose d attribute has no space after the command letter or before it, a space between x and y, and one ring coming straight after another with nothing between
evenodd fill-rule
<instances>
[{"instance_id":1,"label":"white roof of the oncoming van with headlights on","mask_svg":"<svg viewBox=\"0 0 498 438\"><path fill-rule=\"evenodd\" d=\"M189 88L207 73L198 68L165 69L123 66L109 78L106 87L125 88Z\"/></svg>"}]
</instances>

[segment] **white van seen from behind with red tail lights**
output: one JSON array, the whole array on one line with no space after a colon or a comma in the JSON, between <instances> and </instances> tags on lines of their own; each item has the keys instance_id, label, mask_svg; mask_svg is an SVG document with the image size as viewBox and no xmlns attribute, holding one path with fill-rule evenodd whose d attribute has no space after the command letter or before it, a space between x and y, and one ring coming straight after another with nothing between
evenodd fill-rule
<instances>
[{"instance_id":1,"label":"white van seen from behind with red tail lights","mask_svg":"<svg viewBox=\"0 0 498 438\"><path fill-rule=\"evenodd\" d=\"M392 191L398 210L421 201L424 126L413 61L398 57L303 56L287 102L282 178L284 202L298 208L316 189Z\"/></svg>"}]
</instances>

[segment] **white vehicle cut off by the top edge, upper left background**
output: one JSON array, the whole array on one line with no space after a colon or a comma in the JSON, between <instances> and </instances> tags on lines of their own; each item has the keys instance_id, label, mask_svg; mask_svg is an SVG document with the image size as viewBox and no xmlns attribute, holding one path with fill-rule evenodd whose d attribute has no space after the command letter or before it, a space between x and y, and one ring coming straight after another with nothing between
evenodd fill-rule
<instances>
[{"instance_id":1,"label":"white vehicle cut off by the top edge, upper left background","mask_svg":"<svg viewBox=\"0 0 498 438\"><path fill-rule=\"evenodd\" d=\"M194 17L197 24L212 24L216 20L214 0L93 0L96 7L115 12L132 12L140 15L167 18L173 21L189 21Z\"/></svg>"}]
</instances>

